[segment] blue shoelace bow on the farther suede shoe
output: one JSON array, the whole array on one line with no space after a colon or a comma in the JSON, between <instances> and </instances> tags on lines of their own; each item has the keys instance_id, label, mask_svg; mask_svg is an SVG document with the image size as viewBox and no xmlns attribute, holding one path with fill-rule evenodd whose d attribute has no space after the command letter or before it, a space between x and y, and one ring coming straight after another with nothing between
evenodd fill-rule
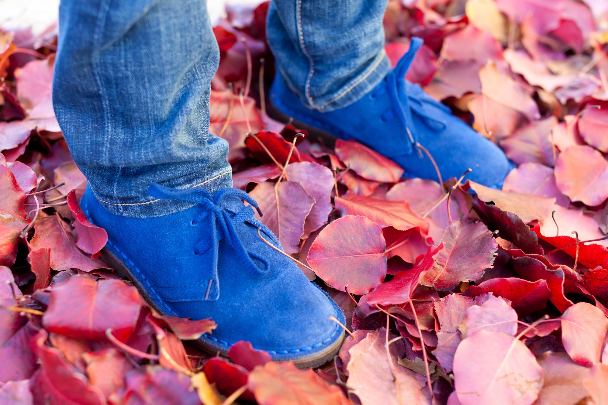
<instances>
[{"instance_id":1,"label":"blue shoelace bow on the farther suede shoe","mask_svg":"<svg viewBox=\"0 0 608 405\"><path fill-rule=\"evenodd\" d=\"M406 93L406 73L412 64L412 61L418 52L418 49L423 44L423 40L420 38L412 38L410 41L410 47L407 50L406 54L404 54L401 59L399 59L397 66L386 75L385 81L387 81L387 86L385 89L380 88L376 91L374 96L379 95L381 92L387 91L389 93L391 109L387 112L395 114L399 123L403 127L404 131L406 131L407 137L409 141L412 143L413 148L418 153L419 157L423 157L422 151L418 147L418 131L416 127L413 125L412 119L412 111L418 114L421 117L426 118L425 122L427 125L433 125L436 128L440 128L441 130L446 128L446 124L435 117L432 117L429 112L426 111L425 103L431 103L422 97L417 97L418 92L411 92L410 94ZM392 82L392 83L391 83ZM420 89L420 88L418 88ZM420 93L422 89L420 89ZM402 96L405 94L405 97ZM449 112L449 108L444 106L441 103L437 103L441 106L444 111ZM432 103L432 105L436 105ZM387 113L385 113L387 114ZM383 114L382 118L384 119L385 114Z\"/></svg>"}]
</instances>

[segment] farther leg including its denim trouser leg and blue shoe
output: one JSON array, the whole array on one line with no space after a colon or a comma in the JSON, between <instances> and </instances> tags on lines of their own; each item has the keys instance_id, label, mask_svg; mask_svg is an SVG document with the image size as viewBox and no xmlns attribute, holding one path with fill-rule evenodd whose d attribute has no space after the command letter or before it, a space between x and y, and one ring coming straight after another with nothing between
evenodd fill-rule
<instances>
[{"instance_id":1,"label":"farther leg including its denim trouser leg and blue shoe","mask_svg":"<svg viewBox=\"0 0 608 405\"><path fill-rule=\"evenodd\" d=\"M384 54L386 0L274 0L268 43L277 59L274 116L301 128L356 139L404 169L404 176L459 177L501 187L505 154L405 80L420 38L391 69ZM438 175L432 159L437 161Z\"/></svg>"}]
</instances>

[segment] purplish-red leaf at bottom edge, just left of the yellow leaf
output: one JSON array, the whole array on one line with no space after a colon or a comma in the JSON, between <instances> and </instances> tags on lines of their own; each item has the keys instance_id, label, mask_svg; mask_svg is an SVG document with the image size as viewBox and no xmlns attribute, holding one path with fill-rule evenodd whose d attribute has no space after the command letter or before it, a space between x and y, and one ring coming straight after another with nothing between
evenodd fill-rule
<instances>
[{"instance_id":1,"label":"purplish-red leaf at bottom edge, just left of the yellow leaf","mask_svg":"<svg viewBox=\"0 0 608 405\"><path fill-rule=\"evenodd\" d=\"M125 386L115 396L116 404L200 405L196 390L190 389L190 378L159 365L147 365L126 375Z\"/></svg>"}]
</instances>

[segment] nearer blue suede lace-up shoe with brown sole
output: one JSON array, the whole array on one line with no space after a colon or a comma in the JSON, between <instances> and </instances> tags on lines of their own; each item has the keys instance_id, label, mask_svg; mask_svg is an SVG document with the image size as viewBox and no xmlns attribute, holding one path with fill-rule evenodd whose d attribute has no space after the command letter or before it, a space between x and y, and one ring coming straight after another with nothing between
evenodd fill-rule
<instances>
[{"instance_id":1,"label":"nearer blue suede lace-up shoe with brown sole","mask_svg":"<svg viewBox=\"0 0 608 405\"><path fill-rule=\"evenodd\" d=\"M218 327L199 339L211 353L249 341L275 361L314 367L333 358L344 336L344 314L306 279L256 220L254 199L238 189L215 196L202 187L152 185L155 198L196 205L164 216L132 218L106 210L90 189L81 206L108 232L103 258L164 315L204 319ZM250 206L244 206L241 199ZM258 234L258 229L260 234Z\"/></svg>"}]
</instances>

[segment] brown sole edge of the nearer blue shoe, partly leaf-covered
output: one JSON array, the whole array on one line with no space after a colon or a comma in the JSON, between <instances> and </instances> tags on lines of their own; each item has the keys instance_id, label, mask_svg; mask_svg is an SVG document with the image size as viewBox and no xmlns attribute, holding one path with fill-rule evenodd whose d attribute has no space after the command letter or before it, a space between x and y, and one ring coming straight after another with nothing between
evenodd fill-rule
<instances>
[{"instance_id":1,"label":"brown sole edge of the nearer blue shoe, partly leaf-covered","mask_svg":"<svg viewBox=\"0 0 608 405\"><path fill-rule=\"evenodd\" d=\"M114 255L111 251L109 251L109 249L104 247L101 256L103 261L105 261L109 266L114 268L114 271L117 275L119 275L121 279L128 280L128 282L137 287L137 289L139 290L139 294L148 303L148 305L151 306L151 308L154 308L154 310L159 314L164 313L164 311L161 311L156 305L156 303L154 303L154 301L150 298L146 290L143 288L142 284L136 279L136 277L133 277L133 275L131 275L131 271L125 265L123 265L122 261L118 257L116 257L116 255ZM321 365L334 358L337 351L340 350L340 347L342 346L344 336L345 333L344 331L342 331L340 337L336 339L336 341L331 346L326 347L325 349L319 351L318 353L315 353L314 355L292 360L276 361L292 361L294 365L300 369L308 369L309 367L320 367ZM217 347L216 345L206 344L206 342L201 342L199 340L190 342L196 347L205 351L206 353L209 353L210 355L217 355L218 352L224 356L227 356L228 354L227 349Z\"/></svg>"}]
</instances>

